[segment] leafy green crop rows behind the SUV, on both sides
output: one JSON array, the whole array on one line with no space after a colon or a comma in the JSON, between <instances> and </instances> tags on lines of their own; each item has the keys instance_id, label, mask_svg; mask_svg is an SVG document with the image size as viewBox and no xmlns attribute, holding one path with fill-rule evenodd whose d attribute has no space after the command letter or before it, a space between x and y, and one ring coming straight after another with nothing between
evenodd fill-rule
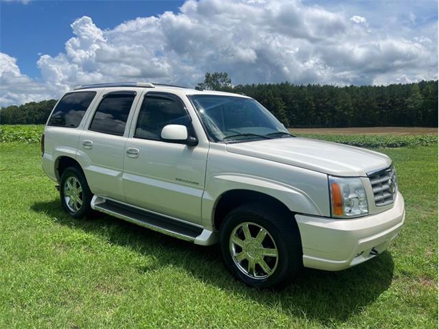
<instances>
[{"instance_id":1,"label":"leafy green crop rows behind the SUV, on both sides","mask_svg":"<svg viewBox=\"0 0 439 329\"><path fill-rule=\"evenodd\" d=\"M0 143L25 142L39 143L43 125L0 125ZM335 134L297 134L300 137L316 138L324 141L343 143L358 147L413 147L438 143L437 135L335 135Z\"/></svg>"}]
</instances>

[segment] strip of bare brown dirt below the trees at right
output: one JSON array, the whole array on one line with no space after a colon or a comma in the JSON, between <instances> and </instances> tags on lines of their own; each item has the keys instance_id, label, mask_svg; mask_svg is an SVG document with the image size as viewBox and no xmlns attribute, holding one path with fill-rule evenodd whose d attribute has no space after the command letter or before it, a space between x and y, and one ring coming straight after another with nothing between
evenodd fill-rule
<instances>
[{"instance_id":1,"label":"strip of bare brown dirt below the trees at right","mask_svg":"<svg viewBox=\"0 0 439 329\"><path fill-rule=\"evenodd\" d=\"M334 135L437 135L438 128L431 127L358 127L358 128L289 128L298 134L334 134Z\"/></svg>"}]
</instances>

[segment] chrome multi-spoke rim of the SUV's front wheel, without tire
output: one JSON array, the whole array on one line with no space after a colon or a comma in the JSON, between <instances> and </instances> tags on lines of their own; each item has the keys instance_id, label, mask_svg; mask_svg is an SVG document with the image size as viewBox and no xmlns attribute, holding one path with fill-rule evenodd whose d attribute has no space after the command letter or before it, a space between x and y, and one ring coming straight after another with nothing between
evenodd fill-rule
<instances>
[{"instance_id":1,"label":"chrome multi-spoke rim of the SUV's front wheel, without tire","mask_svg":"<svg viewBox=\"0 0 439 329\"><path fill-rule=\"evenodd\" d=\"M244 222L236 226L230 234L229 249L238 269L252 279L268 278L276 270L276 243L257 223Z\"/></svg>"}]
</instances>

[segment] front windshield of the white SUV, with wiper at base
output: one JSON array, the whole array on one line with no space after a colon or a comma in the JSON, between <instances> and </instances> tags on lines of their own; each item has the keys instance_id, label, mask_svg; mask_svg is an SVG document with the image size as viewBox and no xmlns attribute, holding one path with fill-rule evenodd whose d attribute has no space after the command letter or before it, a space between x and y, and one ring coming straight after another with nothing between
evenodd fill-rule
<instances>
[{"instance_id":1,"label":"front windshield of the white SUV, with wiper at base","mask_svg":"<svg viewBox=\"0 0 439 329\"><path fill-rule=\"evenodd\" d=\"M188 97L213 141L236 143L292 136L273 114L254 99L217 95Z\"/></svg>"}]
</instances>

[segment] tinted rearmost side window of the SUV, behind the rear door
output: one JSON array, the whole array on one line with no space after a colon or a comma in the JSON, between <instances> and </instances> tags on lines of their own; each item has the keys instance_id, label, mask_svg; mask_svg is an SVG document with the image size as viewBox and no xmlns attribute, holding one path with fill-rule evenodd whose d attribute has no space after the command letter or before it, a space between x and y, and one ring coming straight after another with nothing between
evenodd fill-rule
<instances>
[{"instance_id":1,"label":"tinted rearmost side window of the SUV, behind the rear door","mask_svg":"<svg viewBox=\"0 0 439 329\"><path fill-rule=\"evenodd\" d=\"M64 95L52 113L47 125L78 127L95 95L95 91L81 91Z\"/></svg>"}]
</instances>

